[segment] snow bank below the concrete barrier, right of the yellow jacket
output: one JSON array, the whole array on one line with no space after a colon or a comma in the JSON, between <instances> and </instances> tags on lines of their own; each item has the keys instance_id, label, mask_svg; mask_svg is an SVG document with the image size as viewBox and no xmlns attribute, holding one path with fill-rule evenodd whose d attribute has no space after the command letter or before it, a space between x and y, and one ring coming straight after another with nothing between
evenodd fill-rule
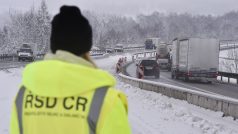
<instances>
[{"instance_id":1,"label":"snow bank below the concrete barrier, right of the yellow jacket","mask_svg":"<svg viewBox=\"0 0 238 134\"><path fill-rule=\"evenodd\" d=\"M235 134L238 121L123 82L117 88L128 96L133 133L142 134Z\"/></svg>"}]
</instances>

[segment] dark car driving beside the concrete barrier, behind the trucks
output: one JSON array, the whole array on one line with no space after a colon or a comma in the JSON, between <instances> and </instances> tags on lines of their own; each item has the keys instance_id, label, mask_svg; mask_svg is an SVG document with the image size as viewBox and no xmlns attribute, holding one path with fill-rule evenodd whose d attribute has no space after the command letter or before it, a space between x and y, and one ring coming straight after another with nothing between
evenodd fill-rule
<instances>
[{"instance_id":1,"label":"dark car driving beside the concrete barrier, behind the trucks","mask_svg":"<svg viewBox=\"0 0 238 134\"><path fill-rule=\"evenodd\" d=\"M160 77L160 67L155 59L142 59L136 64L136 76L142 78L144 76Z\"/></svg>"}]
</instances>

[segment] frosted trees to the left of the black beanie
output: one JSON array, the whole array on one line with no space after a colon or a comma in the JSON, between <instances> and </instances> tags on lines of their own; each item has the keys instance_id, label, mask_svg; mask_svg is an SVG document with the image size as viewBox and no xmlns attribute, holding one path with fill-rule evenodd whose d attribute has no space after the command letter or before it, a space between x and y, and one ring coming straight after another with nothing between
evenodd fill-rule
<instances>
[{"instance_id":1,"label":"frosted trees to the left of the black beanie","mask_svg":"<svg viewBox=\"0 0 238 134\"><path fill-rule=\"evenodd\" d=\"M47 52L50 28L50 15L44 0L37 11L34 7L24 13L11 11L10 21L1 32L2 48L14 53L23 43L29 43L34 50Z\"/></svg>"}]
</instances>

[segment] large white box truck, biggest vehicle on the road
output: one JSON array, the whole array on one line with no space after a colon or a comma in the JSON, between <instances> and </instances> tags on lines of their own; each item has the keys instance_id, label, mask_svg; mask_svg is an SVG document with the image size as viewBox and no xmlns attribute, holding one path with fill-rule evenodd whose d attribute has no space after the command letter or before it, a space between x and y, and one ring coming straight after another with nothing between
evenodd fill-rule
<instances>
[{"instance_id":1,"label":"large white box truck, biggest vehicle on the road","mask_svg":"<svg viewBox=\"0 0 238 134\"><path fill-rule=\"evenodd\" d=\"M185 38L174 39L172 47L171 77L216 80L219 64L219 41L217 39Z\"/></svg>"}]
</instances>

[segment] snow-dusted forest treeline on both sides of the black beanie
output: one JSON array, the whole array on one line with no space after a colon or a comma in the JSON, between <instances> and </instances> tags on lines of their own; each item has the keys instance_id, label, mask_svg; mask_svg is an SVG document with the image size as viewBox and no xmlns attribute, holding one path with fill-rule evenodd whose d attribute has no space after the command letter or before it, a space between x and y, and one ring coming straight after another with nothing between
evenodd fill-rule
<instances>
[{"instance_id":1,"label":"snow-dusted forest treeline on both sides of the black beanie","mask_svg":"<svg viewBox=\"0 0 238 134\"><path fill-rule=\"evenodd\" d=\"M142 44L145 38L159 37L169 42L176 37L238 39L238 12L220 16L189 13L140 14L136 17L82 12L93 27L95 46ZM9 12L9 21L0 29L0 52L15 52L22 43L34 44L39 53L49 50L52 16L46 2L26 12Z\"/></svg>"}]
</instances>

